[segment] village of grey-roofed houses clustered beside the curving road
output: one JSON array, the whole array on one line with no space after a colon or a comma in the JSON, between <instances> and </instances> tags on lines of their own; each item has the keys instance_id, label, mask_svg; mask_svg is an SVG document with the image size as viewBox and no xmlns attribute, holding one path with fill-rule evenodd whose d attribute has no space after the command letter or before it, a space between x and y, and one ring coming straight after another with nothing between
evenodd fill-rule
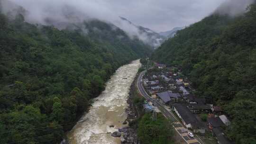
<instances>
[{"instance_id":1,"label":"village of grey-roofed houses clustered beside the curving road","mask_svg":"<svg viewBox=\"0 0 256 144\"><path fill-rule=\"evenodd\" d=\"M178 68L155 63L140 80L147 94L169 108L179 121L194 134L215 136L218 144L232 144L224 133L230 121L222 108L194 95L191 82ZM153 104L154 107L154 104ZM147 111L154 108L145 104ZM188 136L193 137L193 134Z\"/></svg>"}]
</instances>

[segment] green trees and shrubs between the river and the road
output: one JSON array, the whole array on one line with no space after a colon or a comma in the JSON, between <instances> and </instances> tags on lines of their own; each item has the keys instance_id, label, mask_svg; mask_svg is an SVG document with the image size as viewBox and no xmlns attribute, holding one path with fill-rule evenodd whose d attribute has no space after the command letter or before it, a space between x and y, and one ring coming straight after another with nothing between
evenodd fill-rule
<instances>
[{"instance_id":1,"label":"green trees and shrubs between the river and the road","mask_svg":"<svg viewBox=\"0 0 256 144\"><path fill-rule=\"evenodd\" d=\"M146 66L146 59L140 59L140 62ZM143 68L143 66L141 67ZM138 72L139 73L139 72ZM152 113L145 113L143 104L145 99L138 94L137 87L135 86L137 79L134 80L131 86L130 99L133 99L131 106L136 109L137 118L129 122L137 132L137 137L140 144L174 144L174 130L171 122L166 119L161 113L157 114L154 121Z\"/></svg>"}]
</instances>

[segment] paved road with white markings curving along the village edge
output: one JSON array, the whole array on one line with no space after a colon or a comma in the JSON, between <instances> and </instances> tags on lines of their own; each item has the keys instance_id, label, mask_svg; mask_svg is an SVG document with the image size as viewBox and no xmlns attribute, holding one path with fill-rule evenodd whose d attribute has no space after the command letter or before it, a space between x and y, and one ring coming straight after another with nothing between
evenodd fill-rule
<instances>
[{"instance_id":1,"label":"paved road with white markings curving along the village edge","mask_svg":"<svg viewBox=\"0 0 256 144\"><path fill-rule=\"evenodd\" d=\"M143 77L143 75L146 73L146 71L143 71L139 74L138 79L137 79L137 88L140 92L140 94L147 100L151 101L155 107L157 107L165 117L169 118L170 120L173 121L173 126L174 129L178 132L178 134L183 138L183 140L187 143L187 144L201 144L197 139L195 139L194 137L190 137L188 136L188 129L186 129L180 122L179 120L174 116L174 114L172 113L171 110L167 109L165 105L163 105L162 103L160 103L158 100L151 98L146 90L144 89L142 83L141 83L141 79Z\"/></svg>"}]
</instances>

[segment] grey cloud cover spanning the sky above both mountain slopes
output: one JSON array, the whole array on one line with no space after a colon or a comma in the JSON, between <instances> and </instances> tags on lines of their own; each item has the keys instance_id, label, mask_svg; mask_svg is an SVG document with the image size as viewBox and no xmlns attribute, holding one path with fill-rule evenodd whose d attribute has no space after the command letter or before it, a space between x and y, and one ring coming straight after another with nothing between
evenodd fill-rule
<instances>
[{"instance_id":1,"label":"grey cloud cover spanning the sky above both mountain slopes","mask_svg":"<svg viewBox=\"0 0 256 144\"><path fill-rule=\"evenodd\" d=\"M209 15L227 0L11 0L31 13L28 20L45 23L46 17L65 21L65 9L75 8L83 18L99 18L137 33L128 27L119 16L135 24L155 31L170 30L173 27L188 26ZM74 18L75 19L75 18ZM78 20L78 19L76 19Z\"/></svg>"}]
</instances>

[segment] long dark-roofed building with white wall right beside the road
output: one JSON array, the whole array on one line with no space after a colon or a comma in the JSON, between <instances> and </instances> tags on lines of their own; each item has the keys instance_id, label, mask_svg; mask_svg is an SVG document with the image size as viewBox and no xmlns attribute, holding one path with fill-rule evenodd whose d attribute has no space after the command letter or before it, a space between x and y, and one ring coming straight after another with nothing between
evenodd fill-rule
<instances>
[{"instance_id":1,"label":"long dark-roofed building with white wall right beside the road","mask_svg":"<svg viewBox=\"0 0 256 144\"><path fill-rule=\"evenodd\" d=\"M174 104L174 111L181 118L182 123L186 128L191 128L195 133L204 134L205 127L197 120L195 115L193 115L189 109L182 104Z\"/></svg>"}]
</instances>

